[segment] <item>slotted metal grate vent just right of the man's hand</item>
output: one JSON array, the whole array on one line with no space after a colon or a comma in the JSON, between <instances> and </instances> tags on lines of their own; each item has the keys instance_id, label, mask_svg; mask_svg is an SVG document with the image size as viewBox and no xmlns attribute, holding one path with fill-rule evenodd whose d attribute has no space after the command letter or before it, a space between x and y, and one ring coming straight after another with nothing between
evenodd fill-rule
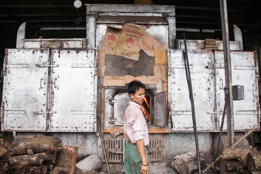
<instances>
[{"instance_id":1,"label":"slotted metal grate vent just right of the man's hand","mask_svg":"<svg viewBox=\"0 0 261 174\"><path fill-rule=\"evenodd\" d=\"M163 153L162 139L150 139L149 159L150 162L162 161Z\"/></svg>"}]
</instances>

